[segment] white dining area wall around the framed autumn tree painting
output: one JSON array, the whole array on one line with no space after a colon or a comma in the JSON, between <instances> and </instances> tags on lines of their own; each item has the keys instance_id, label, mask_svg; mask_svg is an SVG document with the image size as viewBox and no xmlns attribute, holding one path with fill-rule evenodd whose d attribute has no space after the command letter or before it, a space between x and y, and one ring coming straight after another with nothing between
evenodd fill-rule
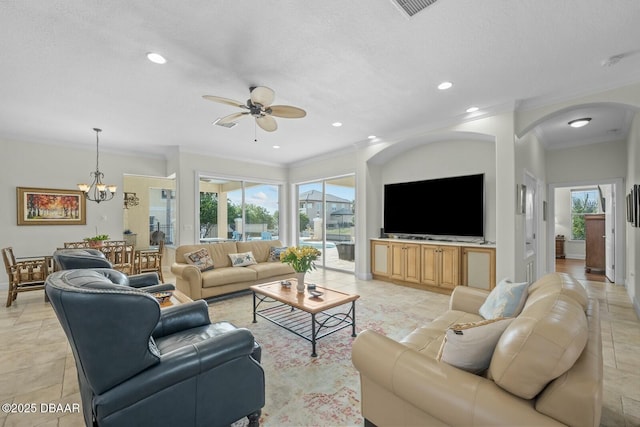
<instances>
[{"instance_id":1,"label":"white dining area wall around the framed autumn tree painting","mask_svg":"<svg viewBox=\"0 0 640 427\"><path fill-rule=\"evenodd\" d=\"M88 139L90 141L90 139ZM95 170L95 146L78 150L66 146L0 141L0 246L12 246L16 256L49 255L64 242L109 234L121 239L123 226L123 175L164 176L165 161L100 150L100 171L104 181L118 186L108 202L87 201L86 225L17 225L16 187L77 190L78 183L90 183Z\"/></svg>"}]
</instances>

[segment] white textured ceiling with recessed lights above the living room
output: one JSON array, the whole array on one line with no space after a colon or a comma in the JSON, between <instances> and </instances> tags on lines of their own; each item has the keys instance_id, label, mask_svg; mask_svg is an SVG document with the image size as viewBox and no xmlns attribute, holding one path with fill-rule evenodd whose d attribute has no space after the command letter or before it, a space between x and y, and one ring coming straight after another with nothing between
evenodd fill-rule
<instances>
[{"instance_id":1,"label":"white textured ceiling with recessed lights above the living room","mask_svg":"<svg viewBox=\"0 0 640 427\"><path fill-rule=\"evenodd\" d=\"M415 138L472 105L491 114L640 81L638 22L632 0L439 0L411 18L392 0L2 1L0 138L92 149L101 127L101 150L290 164L369 135ZM439 91L444 80L454 86ZM211 124L238 109L202 95L245 101L254 85L307 117L273 133L251 118ZM620 139L629 124L593 106L576 138L565 113L536 129L549 146Z\"/></svg>"}]
</instances>

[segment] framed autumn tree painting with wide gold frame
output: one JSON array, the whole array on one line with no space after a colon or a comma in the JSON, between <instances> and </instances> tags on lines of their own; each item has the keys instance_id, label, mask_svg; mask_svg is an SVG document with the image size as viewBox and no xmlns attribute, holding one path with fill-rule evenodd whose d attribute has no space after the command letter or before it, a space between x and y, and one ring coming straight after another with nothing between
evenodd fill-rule
<instances>
[{"instance_id":1,"label":"framed autumn tree painting with wide gold frame","mask_svg":"<svg viewBox=\"0 0 640 427\"><path fill-rule=\"evenodd\" d=\"M80 190L16 187L18 225L85 225L86 200Z\"/></svg>"}]
</instances>

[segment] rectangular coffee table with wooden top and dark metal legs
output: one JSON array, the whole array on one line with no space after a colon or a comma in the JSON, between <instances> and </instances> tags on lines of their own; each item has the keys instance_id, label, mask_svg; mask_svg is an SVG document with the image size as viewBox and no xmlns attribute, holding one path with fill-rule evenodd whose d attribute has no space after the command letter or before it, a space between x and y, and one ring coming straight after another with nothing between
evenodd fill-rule
<instances>
[{"instance_id":1,"label":"rectangular coffee table with wooden top and dark metal legs","mask_svg":"<svg viewBox=\"0 0 640 427\"><path fill-rule=\"evenodd\" d=\"M291 286L283 286L278 281L250 287L253 291L253 323L260 316L310 341L311 357L317 357L316 341L320 338L349 326L351 336L356 336L356 300L360 295L316 286L322 295L314 297L308 291L299 293L295 279L291 281ZM345 305L347 308L343 307Z\"/></svg>"}]
</instances>

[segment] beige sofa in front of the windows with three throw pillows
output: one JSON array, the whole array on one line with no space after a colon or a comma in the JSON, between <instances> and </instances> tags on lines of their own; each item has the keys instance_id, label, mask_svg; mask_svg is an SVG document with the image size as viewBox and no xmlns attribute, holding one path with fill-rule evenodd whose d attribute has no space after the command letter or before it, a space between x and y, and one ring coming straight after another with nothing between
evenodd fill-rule
<instances>
[{"instance_id":1,"label":"beige sofa in front of the windows with three throw pillows","mask_svg":"<svg viewBox=\"0 0 640 427\"><path fill-rule=\"evenodd\" d=\"M242 291L251 285L292 278L295 271L288 264L269 261L271 247L282 247L279 240L253 240L248 242L223 242L200 245L183 245L176 248L171 272L176 276L176 287L191 299L210 298ZM200 271L188 264L184 255L206 248L213 260L213 270ZM253 253L258 262L246 267L232 267L229 254Z\"/></svg>"}]
</instances>

